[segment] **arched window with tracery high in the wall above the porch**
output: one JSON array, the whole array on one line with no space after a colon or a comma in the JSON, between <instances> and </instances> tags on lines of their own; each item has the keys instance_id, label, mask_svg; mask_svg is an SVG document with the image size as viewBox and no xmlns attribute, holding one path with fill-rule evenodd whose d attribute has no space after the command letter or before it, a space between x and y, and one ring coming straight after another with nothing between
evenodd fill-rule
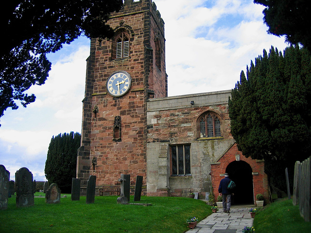
<instances>
[{"instance_id":1,"label":"arched window with tracery high in the wall above the porch","mask_svg":"<svg viewBox=\"0 0 311 233\"><path fill-rule=\"evenodd\" d=\"M219 116L214 113L207 112L199 118L199 137L220 137L221 124Z\"/></svg>"}]
</instances>

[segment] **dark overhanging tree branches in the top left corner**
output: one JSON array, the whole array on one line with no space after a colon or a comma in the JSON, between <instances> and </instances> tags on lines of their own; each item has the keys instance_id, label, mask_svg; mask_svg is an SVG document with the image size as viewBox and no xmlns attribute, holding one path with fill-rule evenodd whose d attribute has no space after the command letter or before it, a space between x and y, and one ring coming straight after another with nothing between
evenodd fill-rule
<instances>
[{"instance_id":1,"label":"dark overhanging tree branches in the top left corner","mask_svg":"<svg viewBox=\"0 0 311 233\"><path fill-rule=\"evenodd\" d=\"M51 69L46 53L55 52L79 35L103 39L113 30L109 14L122 0L10 0L1 5L0 117L15 100L26 107L35 95L24 92L45 83Z\"/></svg>"}]
</instances>

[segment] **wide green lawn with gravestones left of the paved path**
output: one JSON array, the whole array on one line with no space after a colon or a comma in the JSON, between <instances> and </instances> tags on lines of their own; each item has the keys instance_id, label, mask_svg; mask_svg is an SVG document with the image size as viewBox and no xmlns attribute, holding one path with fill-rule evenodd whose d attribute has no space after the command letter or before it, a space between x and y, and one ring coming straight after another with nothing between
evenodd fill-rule
<instances>
[{"instance_id":1,"label":"wide green lawn with gravestones left of the paved path","mask_svg":"<svg viewBox=\"0 0 311 233\"><path fill-rule=\"evenodd\" d=\"M202 220L211 214L204 201L190 198L142 196L135 203L153 205L121 205L116 196L86 204L86 197L71 201L69 194L59 204L35 198L35 206L17 208L13 196L7 210L0 211L0 233L183 233L189 216Z\"/></svg>"}]
</instances>

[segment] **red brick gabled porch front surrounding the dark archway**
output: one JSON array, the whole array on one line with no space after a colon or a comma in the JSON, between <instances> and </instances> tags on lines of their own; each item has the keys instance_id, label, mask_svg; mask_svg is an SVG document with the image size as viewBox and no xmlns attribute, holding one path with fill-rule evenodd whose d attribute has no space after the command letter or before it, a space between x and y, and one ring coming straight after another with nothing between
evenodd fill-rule
<instances>
[{"instance_id":1,"label":"red brick gabled porch front surrounding the dark archway","mask_svg":"<svg viewBox=\"0 0 311 233\"><path fill-rule=\"evenodd\" d=\"M218 196L219 183L221 179L224 178L228 165L234 161L244 161L251 167L254 186L253 200L255 200L256 194L261 193L264 196L265 203L269 203L269 185L267 174L264 173L264 161L252 159L250 157L246 158L242 152L238 150L236 143L232 144L217 161L211 163L210 175L215 198Z\"/></svg>"}]
</instances>

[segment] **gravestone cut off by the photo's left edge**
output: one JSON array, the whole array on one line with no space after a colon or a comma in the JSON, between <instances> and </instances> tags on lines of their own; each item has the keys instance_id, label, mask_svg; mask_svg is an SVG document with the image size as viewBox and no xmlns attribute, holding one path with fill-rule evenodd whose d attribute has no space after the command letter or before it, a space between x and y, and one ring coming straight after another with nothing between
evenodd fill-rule
<instances>
[{"instance_id":1,"label":"gravestone cut off by the photo's left edge","mask_svg":"<svg viewBox=\"0 0 311 233\"><path fill-rule=\"evenodd\" d=\"M0 165L0 210L8 208L10 172Z\"/></svg>"}]
</instances>

